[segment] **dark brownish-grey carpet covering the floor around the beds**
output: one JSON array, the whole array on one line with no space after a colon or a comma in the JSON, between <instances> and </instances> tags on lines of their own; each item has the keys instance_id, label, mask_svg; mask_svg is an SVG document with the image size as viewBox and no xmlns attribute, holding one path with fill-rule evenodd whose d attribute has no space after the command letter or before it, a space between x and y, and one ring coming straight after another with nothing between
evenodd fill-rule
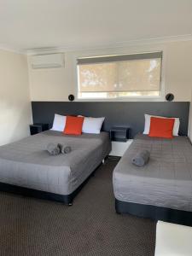
<instances>
[{"instance_id":1,"label":"dark brownish-grey carpet covering the floor around the beds","mask_svg":"<svg viewBox=\"0 0 192 256\"><path fill-rule=\"evenodd\" d=\"M116 160L100 166L73 207L0 193L0 255L154 255L155 222L114 211Z\"/></svg>"}]
</instances>

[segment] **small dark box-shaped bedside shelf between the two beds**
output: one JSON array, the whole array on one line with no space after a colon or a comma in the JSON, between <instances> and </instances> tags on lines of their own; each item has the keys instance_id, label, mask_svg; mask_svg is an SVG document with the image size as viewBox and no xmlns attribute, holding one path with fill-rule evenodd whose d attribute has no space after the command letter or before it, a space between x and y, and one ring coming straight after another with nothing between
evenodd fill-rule
<instances>
[{"instance_id":1,"label":"small dark box-shaped bedside shelf between the two beds","mask_svg":"<svg viewBox=\"0 0 192 256\"><path fill-rule=\"evenodd\" d=\"M113 142L126 142L129 139L130 127L113 126L110 129L110 139Z\"/></svg>"}]
</instances>

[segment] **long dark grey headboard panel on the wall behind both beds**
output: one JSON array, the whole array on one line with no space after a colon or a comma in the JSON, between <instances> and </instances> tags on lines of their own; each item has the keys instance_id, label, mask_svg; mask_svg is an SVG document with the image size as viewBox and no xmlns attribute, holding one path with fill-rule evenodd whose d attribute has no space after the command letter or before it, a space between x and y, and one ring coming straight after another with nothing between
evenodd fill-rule
<instances>
[{"instance_id":1,"label":"long dark grey headboard panel on the wall behind both beds","mask_svg":"<svg viewBox=\"0 0 192 256\"><path fill-rule=\"evenodd\" d=\"M131 137L143 131L144 113L178 117L181 120L180 135L187 136L189 102L32 102L34 123L53 123L54 114L82 114L106 117L102 130L113 125L131 127Z\"/></svg>"}]
</instances>

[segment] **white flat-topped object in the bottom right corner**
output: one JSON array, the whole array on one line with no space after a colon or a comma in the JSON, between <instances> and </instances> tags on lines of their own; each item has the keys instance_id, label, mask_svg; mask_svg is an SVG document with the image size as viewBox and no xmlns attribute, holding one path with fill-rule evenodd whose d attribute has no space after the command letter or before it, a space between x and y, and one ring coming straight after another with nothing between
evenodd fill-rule
<instances>
[{"instance_id":1,"label":"white flat-topped object in the bottom right corner","mask_svg":"<svg viewBox=\"0 0 192 256\"><path fill-rule=\"evenodd\" d=\"M192 227L158 221L154 256L191 256Z\"/></svg>"}]
</instances>

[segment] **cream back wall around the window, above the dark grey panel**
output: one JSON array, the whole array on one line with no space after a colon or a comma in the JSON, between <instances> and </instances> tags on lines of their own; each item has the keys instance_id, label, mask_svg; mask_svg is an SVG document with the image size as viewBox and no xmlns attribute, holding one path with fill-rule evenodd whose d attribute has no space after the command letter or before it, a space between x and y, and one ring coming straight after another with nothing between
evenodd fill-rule
<instances>
[{"instance_id":1,"label":"cream back wall around the window, above the dark grey panel","mask_svg":"<svg viewBox=\"0 0 192 256\"><path fill-rule=\"evenodd\" d=\"M84 50L65 53L65 67L32 70L29 65L32 101L67 101L76 93L75 56L110 55L142 51L164 51L163 79L165 93L172 92L176 101L190 101L192 84L192 41L164 44L145 44L111 49ZM30 56L29 56L30 63Z\"/></svg>"}]
</instances>

